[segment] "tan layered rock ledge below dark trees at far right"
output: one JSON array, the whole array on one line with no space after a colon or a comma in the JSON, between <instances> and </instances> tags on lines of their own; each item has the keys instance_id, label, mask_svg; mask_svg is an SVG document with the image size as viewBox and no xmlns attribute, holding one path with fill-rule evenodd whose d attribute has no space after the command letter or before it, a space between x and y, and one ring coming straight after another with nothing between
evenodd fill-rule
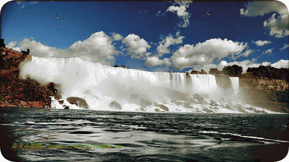
<instances>
[{"instance_id":1,"label":"tan layered rock ledge below dark trees at far right","mask_svg":"<svg viewBox=\"0 0 289 162\"><path fill-rule=\"evenodd\" d=\"M245 89L270 91L288 91L289 83L280 79L247 79L239 78L239 84Z\"/></svg>"}]
</instances>

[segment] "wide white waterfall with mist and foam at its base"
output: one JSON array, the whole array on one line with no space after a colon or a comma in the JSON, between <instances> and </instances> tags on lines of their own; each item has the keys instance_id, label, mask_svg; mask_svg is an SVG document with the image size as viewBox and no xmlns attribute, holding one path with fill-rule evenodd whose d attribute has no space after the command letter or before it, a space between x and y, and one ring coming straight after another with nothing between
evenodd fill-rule
<instances>
[{"instance_id":1,"label":"wide white waterfall with mist and foam at its base","mask_svg":"<svg viewBox=\"0 0 289 162\"><path fill-rule=\"evenodd\" d=\"M61 57L34 57L31 61L25 62L20 68L20 76L24 79L28 76L38 82L45 84L54 82L61 84L57 90L63 96L64 104L74 109L66 101L68 97L82 98L92 110L110 110L112 101L121 105L117 111L149 111L154 112L154 105L163 105L169 112L206 112L203 109L210 109L215 113L241 113L237 108L232 110L223 108L226 104L239 104L239 107L252 107L238 102L238 98L232 101L222 101L220 96L226 96L227 91L219 88L214 75L193 74L186 76L185 73L149 72L136 69L110 67L100 63L83 61L80 58ZM186 78L189 77L190 79ZM190 81L187 81L190 80ZM232 79L233 89L238 87L237 79ZM179 91L178 93L176 93ZM234 89L235 91L235 89ZM188 94L186 97L178 98L173 94ZM204 103L198 104L192 99L194 94L204 97ZM138 99L132 98L138 95ZM232 97L232 96L231 96ZM177 100L177 103L173 103ZM189 101L189 99L191 99ZM208 103L213 100L219 106L210 108ZM54 107L62 108L53 101ZM256 108L256 110L263 110ZM161 110L162 111L162 110ZM246 110L247 111L247 110ZM248 110L247 112L251 112ZM268 110L266 110L268 113Z\"/></svg>"}]
</instances>

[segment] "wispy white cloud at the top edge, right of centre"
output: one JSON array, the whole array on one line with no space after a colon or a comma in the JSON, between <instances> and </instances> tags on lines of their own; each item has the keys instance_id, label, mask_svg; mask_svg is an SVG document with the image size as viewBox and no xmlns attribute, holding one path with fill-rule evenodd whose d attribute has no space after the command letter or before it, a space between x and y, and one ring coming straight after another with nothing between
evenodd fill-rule
<instances>
[{"instance_id":1,"label":"wispy white cloud at the top edge, right of centre","mask_svg":"<svg viewBox=\"0 0 289 162\"><path fill-rule=\"evenodd\" d=\"M179 4L180 6L170 6L166 10L166 12L171 11L173 13L177 13L178 17L183 19L183 22L178 24L179 27L187 27L189 25L189 18L191 14L186 11L186 8L189 7L191 2L192 1L176 1L175 4ZM157 16L159 13L160 11L157 13Z\"/></svg>"}]
</instances>

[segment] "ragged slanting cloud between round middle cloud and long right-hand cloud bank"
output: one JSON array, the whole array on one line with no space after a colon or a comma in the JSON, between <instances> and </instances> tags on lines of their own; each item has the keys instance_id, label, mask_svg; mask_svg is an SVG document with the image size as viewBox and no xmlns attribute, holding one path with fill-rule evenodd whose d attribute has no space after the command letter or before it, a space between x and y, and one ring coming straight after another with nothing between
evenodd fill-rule
<instances>
[{"instance_id":1,"label":"ragged slanting cloud between round middle cloud and long right-hand cloud bank","mask_svg":"<svg viewBox=\"0 0 289 162\"><path fill-rule=\"evenodd\" d=\"M179 35L180 32L176 33L177 38L173 38L172 35L164 36L161 35L161 42L159 42L159 46L157 46L157 53L159 57L162 57L165 53L170 53L170 49L168 48L170 45L181 44L183 43L182 39L185 38L184 36Z\"/></svg>"}]
</instances>

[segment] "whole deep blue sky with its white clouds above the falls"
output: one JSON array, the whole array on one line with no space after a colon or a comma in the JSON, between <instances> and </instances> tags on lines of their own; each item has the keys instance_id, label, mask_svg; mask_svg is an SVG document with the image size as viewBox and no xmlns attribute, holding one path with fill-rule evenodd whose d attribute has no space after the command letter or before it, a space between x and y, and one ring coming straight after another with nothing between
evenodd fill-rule
<instances>
[{"instance_id":1,"label":"whole deep blue sky with its white clouds above the falls","mask_svg":"<svg viewBox=\"0 0 289 162\"><path fill-rule=\"evenodd\" d=\"M289 68L283 3L9 1L2 4L1 38L6 47L29 48L33 56L146 71L208 73L233 64L243 73L261 64Z\"/></svg>"}]
</instances>

